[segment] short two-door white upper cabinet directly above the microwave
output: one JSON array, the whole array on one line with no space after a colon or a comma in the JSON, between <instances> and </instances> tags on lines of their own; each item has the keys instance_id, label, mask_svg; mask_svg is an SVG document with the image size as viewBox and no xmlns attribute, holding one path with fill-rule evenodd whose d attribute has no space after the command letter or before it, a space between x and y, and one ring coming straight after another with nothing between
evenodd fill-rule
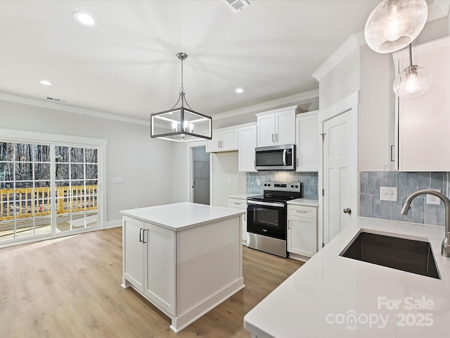
<instances>
[{"instance_id":1,"label":"short two-door white upper cabinet directly above the microwave","mask_svg":"<svg viewBox=\"0 0 450 338\"><path fill-rule=\"evenodd\" d=\"M295 144L297 106L275 109L257 116L257 146Z\"/></svg>"}]
</instances>

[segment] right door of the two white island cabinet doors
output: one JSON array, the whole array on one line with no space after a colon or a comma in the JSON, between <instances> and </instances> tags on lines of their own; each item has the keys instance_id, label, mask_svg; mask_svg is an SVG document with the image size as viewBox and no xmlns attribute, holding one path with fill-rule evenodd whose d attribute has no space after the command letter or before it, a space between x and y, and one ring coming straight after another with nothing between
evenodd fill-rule
<instances>
[{"instance_id":1,"label":"right door of the two white island cabinet doors","mask_svg":"<svg viewBox=\"0 0 450 338\"><path fill-rule=\"evenodd\" d=\"M169 315L176 315L176 232L150 223L145 228L144 294Z\"/></svg>"}]
</instances>

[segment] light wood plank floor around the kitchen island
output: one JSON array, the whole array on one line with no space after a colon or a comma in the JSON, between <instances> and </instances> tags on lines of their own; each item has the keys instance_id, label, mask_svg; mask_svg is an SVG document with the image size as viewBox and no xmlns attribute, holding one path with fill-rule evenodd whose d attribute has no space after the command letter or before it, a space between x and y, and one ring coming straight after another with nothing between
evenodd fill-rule
<instances>
[{"instance_id":1,"label":"light wood plank floor around the kitchen island","mask_svg":"<svg viewBox=\"0 0 450 338\"><path fill-rule=\"evenodd\" d=\"M122 228L0 249L0 337L250 337L243 316L302 265L243 247L245 288L175 334L122 289Z\"/></svg>"}]
</instances>

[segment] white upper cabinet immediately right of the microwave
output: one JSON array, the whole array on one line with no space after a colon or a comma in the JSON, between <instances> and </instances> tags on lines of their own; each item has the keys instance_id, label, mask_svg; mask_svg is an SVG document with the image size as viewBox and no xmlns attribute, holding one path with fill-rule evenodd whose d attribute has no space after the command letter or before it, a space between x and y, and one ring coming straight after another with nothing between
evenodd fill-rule
<instances>
[{"instance_id":1,"label":"white upper cabinet immediately right of the microwave","mask_svg":"<svg viewBox=\"0 0 450 338\"><path fill-rule=\"evenodd\" d=\"M295 163L297 171L319 171L319 111L297 114Z\"/></svg>"}]
</instances>

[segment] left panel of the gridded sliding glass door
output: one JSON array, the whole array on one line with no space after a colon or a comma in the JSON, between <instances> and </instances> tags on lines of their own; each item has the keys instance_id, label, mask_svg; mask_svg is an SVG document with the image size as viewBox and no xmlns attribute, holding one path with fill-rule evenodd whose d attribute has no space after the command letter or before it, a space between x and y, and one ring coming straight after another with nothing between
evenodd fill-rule
<instances>
[{"instance_id":1,"label":"left panel of the gridded sliding glass door","mask_svg":"<svg viewBox=\"0 0 450 338\"><path fill-rule=\"evenodd\" d=\"M51 234L50 145L0 142L0 242Z\"/></svg>"}]
</instances>

